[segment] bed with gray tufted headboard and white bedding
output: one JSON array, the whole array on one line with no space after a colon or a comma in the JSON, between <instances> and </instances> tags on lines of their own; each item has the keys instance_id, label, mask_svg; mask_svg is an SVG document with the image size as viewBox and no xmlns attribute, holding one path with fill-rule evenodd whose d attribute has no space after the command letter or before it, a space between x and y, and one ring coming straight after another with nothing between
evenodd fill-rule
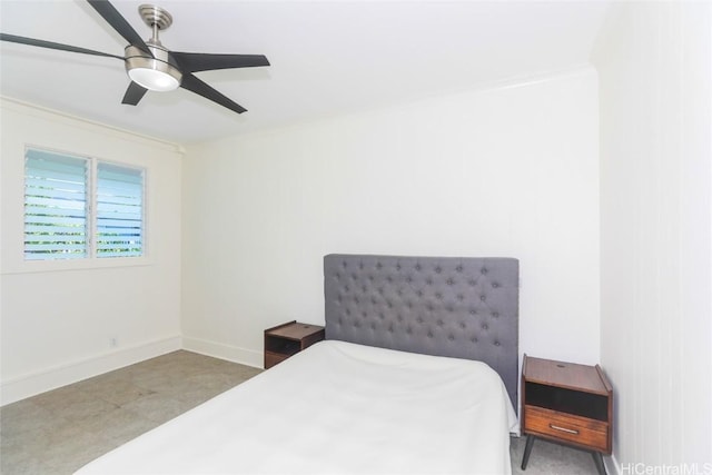
<instances>
[{"instance_id":1,"label":"bed with gray tufted headboard and white bedding","mask_svg":"<svg viewBox=\"0 0 712 475\"><path fill-rule=\"evenodd\" d=\"M87 474L508 474L518 263L329 255L326 340Z\"/></svg>"}]
</instances>

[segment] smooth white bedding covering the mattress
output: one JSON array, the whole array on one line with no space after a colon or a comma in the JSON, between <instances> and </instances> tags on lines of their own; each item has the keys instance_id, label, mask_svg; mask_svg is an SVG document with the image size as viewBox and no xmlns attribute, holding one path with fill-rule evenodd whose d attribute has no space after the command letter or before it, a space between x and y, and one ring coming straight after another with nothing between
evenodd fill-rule
<instances>
[{"instance_id":1,"label":"smooth white bedding covering the mattress","mask_svg":"<svg viewBox=\"0 0 712 475\"><path fill-rule=\"evenodd\" d=\"M327 340L78 474L510 474L515 424L483 363Z\"/></svg>"}]
</instances>

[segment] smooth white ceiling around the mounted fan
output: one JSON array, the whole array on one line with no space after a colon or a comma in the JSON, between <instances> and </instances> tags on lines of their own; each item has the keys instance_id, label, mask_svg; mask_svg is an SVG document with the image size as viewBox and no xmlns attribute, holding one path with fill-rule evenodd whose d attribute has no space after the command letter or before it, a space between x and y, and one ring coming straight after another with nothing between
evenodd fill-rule
<instances>
[{"instance_id":1,"label":"smooth white ceiling around the mounted fan","mask_svg":"<svg viewBox=\"0 0 712 475\"><path fill-rule=\"evenodd\" d=\"M144 38L138 6L113 6ZM184 89L121 105L118 59L1 42L2 96L181 144L474 89L589 61L607 1L155 0L168 49L260 53L268 68L199 72L248 109ZM125 40L83 1L0 0L0 28L121 56Z\"/></svg>"}]
</instances>

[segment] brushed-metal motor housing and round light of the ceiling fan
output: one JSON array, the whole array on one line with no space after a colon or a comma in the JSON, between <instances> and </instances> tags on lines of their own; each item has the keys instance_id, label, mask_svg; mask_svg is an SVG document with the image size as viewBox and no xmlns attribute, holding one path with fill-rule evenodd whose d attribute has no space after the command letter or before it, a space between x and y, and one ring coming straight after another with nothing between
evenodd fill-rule
<instances>
[{"instance_id":1,"label":"brushed-metal motor housing and round light of the ceiling fan","mask_svg":"<svg viewBox=\"0 0 712 475\"><path fill-rule=\"evenodd\" d=\"M149 44L154 58L147 56L136 47L126 49L126 71L129 78L139 86L151 91L172 91L180 86L182 75L168 62L166 50Z\"/></svg>"}]
</instances>

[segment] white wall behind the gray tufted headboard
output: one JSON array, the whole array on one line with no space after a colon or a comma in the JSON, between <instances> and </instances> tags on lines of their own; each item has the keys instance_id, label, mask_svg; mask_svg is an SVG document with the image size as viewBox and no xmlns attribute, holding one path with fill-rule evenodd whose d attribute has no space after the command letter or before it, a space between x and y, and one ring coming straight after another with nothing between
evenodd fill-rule
<instances>
[{"instance_id":1,"label":"white wall behind the gray tufted headboard","mask_svg":"<svg viewBox=\"0 0 712 475\"><path fill-rule=\"evenodd\" d=\"M324 320L328 253L512 256L521 350L597 363L597 107L582 68L190 147L186 346L261 365Z\"/></svg>"}]
</instances>

